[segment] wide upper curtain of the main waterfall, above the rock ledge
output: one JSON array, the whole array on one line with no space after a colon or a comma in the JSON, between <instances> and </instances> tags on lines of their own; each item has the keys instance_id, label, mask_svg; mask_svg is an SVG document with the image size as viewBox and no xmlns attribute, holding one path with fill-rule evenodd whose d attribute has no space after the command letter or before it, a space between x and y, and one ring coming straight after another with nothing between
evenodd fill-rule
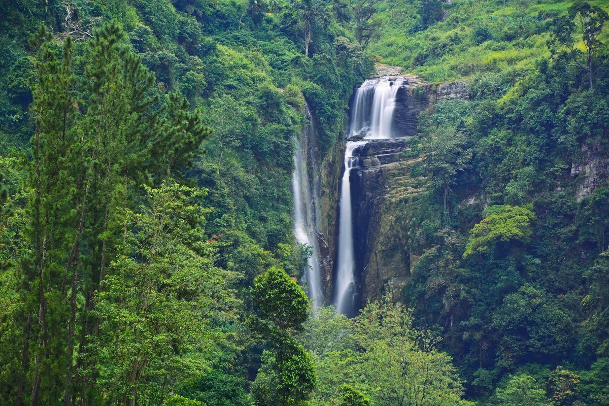
<instances>
[{"instance_id":1,"label":"wide upper curtain of the main waterfall, above the rock ledge","mask_svg":"<svg viewBox=\"0 0 609 406\"><path fill-rule=\"evenodd\" d=\"M400 77L369 79L360 86L351 108L351 136L364 134L366 139L392 138L393 111Z\"/></svg>"}]
</instances>

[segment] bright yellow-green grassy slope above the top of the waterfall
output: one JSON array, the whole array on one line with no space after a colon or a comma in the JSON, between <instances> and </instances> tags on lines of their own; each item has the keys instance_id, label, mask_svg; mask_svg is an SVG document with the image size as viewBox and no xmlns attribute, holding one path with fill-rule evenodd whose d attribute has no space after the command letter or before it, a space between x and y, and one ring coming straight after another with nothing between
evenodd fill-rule
<instances>
[{"instance_id":1,"label":"bright yellow-green grassy slope above the top of the waterfall","mask_svg":"<svg viewBox=\"0 0 609 406\"><path fill-rule=\"evenodd\" d=\"M609 9L609 0L592 3ZM519 4L523 2L506 1L506 22L500 0L453 0L443 4L443 21L410 33L417 24L417 9L409 2L396 1L379 14L381 38L367 52L431 82L470 78L489 71L526 71L538 58L549 57L547 21L565 13L571 2L531 1L527 10ZM488 30L491 39L476 41L476 30ZM604 37L609 37L607 32Z\"/></svg>"}]
</instances>

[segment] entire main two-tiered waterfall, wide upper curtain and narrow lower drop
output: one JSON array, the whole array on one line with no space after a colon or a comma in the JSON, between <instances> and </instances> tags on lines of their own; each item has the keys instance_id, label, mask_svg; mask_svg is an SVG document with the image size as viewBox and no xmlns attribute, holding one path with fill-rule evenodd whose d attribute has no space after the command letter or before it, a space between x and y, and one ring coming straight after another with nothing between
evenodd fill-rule
<instances>
[{"instance_id":1,"label":"entire main two-tiered waterfall, wide upper curtain and narrow lower drop","mask_svg":"<svg viewBox=\"0 0 609 406\"><path fill-rule=\"evenodd\" d=\"M393 113L396 96L403 79L381 77L367 80L353 98L350 138L363 136L363 141L347 141L345 169L340 185L339 245L334 268L334 303L339 313L353 317L359 310L356 303L356 262L354 253L353 205L351 199L351 169L357 166L354 151L367 144L366 140L392 138Z\"/></svg>"}]
</instances>

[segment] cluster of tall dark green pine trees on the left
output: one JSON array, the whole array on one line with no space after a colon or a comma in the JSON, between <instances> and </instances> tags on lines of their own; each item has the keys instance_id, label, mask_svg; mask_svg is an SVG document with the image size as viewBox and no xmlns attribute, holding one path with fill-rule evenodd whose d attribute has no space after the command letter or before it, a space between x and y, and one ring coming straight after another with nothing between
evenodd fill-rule
<instances>
[{"instance_id":1,"label":"cluster of tall dark green pine trees on the left","mask_svg":"<svg viewBox=\"0 0 609 406\"><path fill-rule=\"evenodd\" d=\"M141 183L167 183L188 166L210 132L200 111L188 111L178 94L160 102L154 75L130 52L116 23L95 30L94 38L80 48L76 67L71 37L63 46L50 40L40 29L32 41L32 46L40 44L31 107L36 131L24 185L32 192L19 211L27 224L23 236L16 236L24 240L21 264L10 270L18 276L21 303L3 315L11 317L5 337L21 346L20 362L7 364L1 375L5 396L16 404L69 404L77 398L96 402L102 387L110 385L105 379L110 363L102 349L111 334L100 336L99 328L116 322L108 320L104 309L111 309L119 285L128 285L112 284L119 272L109 268L123 249L118 241L127 236L127 223L121 226L121 219L137 207ZM109 292L102 300L99 289L105 276ZM181 332L192 338L192 331ZM129 345L127 338L119 341ZM180 340L171 341L177 350ZM139 362L131 364L132 376L148 380L137 371ZM114 366L120 369L121 363ZM121 373L113 370L110 376ZM98 377L99 386L90 387L88 380ZM137 387L139 382L125 378L122 383ZM122 392L124 400L132 393L154 393L146 384L139 391Z\"/></svg>"}]
</instances>

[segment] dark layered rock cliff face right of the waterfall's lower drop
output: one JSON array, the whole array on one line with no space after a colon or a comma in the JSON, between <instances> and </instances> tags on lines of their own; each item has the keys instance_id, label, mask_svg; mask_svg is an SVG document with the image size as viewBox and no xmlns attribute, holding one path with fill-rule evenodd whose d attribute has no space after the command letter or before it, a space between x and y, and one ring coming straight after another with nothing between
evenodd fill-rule
<instances>
[{"instance_id":1,"label":"dark layered rock cliff face right of the waterfall's lower drop","mask_svg":"<svg viewBox=\"0 0 609 406\"><path fill-rule=\"evenodd\" d=\"M425 178L412 177L409 158L411 137L368 142L356 149L357 167L351 170L356 269L362 303L395 290L410 276L417 261L406 247L401 217L407 206L424 191Z\"/></svg>"}]
</instances>

